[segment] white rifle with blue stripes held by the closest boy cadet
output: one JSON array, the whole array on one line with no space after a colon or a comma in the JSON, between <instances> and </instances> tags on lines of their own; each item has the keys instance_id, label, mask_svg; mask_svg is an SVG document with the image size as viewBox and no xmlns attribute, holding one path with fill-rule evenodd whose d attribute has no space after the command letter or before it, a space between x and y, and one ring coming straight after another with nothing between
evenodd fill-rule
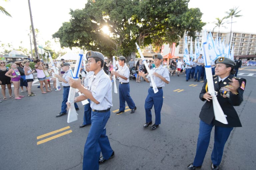
<instances>
[{"instance_id":1,"label":"white rifle with blue stripes held by the closest boy cadet","mask_svg":"<svg viewBox=\"0 0 256 170\"><path fill-rule=\"evenodd\" d=\"M83 50L80 50L79 52L79 56L77 57L76 60L76 65L74 68L74 73L72 73L72 70L70 70L71 72L71 76L74 80L78 80L79 79L79 74L80 74L80 68L82 65L82 60L83 60ZM76 108L75 108L75 102L74 102L74 98L75 98L75 94L76 94L76 88L73 87L69 87L69 93L68 93L68 102L70 103L70 107L68 110L68 123L76 121L77 120L77 112L76 112Z\"/></svg>"}]
</instances>

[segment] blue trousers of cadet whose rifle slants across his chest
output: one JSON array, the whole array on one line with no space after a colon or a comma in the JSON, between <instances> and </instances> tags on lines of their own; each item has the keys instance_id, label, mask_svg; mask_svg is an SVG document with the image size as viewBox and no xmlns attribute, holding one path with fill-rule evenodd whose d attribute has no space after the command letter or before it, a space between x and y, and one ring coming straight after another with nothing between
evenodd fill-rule
<instances>
[{"instance_id":1,"label":"blue trousers of cadet whose rifle slants across his chest","mask_svg":"<svg viewBox=\"0 0 256 170\"><path fill-rule=\"evenodd\" d=\"M157 93L154 93L153 88L148 89L148 96L145 100L146 122L152 121L151 109L154 105L155 109L155 124L161 123L161 109L163 105L163 89L159 88Z\"/></svg>"}]
</instances>

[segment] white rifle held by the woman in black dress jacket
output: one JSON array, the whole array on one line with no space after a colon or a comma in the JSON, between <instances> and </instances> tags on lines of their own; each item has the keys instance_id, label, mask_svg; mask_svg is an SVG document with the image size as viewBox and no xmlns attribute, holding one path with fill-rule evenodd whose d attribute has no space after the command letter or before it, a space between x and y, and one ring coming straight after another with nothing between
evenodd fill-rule
<instances>
[{"instance_id":1,"label":"white rifle held by the woman in black dress jacket","mask_svg":"<svg viewBox=\"0 0 256 170\"><path fill-rule=\"evenodd\" d=\"M203 51L204 51L204 63L205 63L205 74L206 74L206 79L207 79L207 84L208 84L208 92L212 96L212 103L213 103L213 111L214 111L214 117L215 120L223 123L223 124L228 124L228 121L226 119L227 115L224 114L220 103L218 102L217 99L217 91L214 90L214 84L213 84L213 78L212 78L212 69L211 69L211 60L210 56L208 53L208 44L206 37L203 39Z\"/></svg>"}]
</instances>

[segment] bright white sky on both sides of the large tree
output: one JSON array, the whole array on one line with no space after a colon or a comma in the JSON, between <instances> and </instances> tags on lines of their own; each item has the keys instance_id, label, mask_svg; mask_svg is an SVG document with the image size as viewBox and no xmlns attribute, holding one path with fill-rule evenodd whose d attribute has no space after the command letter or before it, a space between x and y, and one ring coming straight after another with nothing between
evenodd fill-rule
<instances>
[{"instance_id":1,"label":"bright white sky on both sides of the large tree","mask_svg":"<svg viewBox=\"0 0 256 170\"><path fill-rule=\"evenodd\" d=\"M242 3L241 3L242 2ZM52 39L52 35L58 31L63 22L70 19L70 9L84 8L86 0L30 0L34 28L39 29L39 45ZM239 7L242 17L233 18L232 30L249 32L256 34L256 22L254 21L256 1L253 0L190 0L189 8L199 8L203 13L202 21L207 23L203 29L212 30L215 25L215 18L223 18L227 14L225 11ZM0 43L12 44L14 48L23 46L30 49L29 26L30 16L27 0L10 0L5 2L0 0L0 6L4 7L12 17L0 13ZM231 19L227 19L230 22ZM230 31L231 24L225 24L226 28L221 31ZM218 28L215 28L218 30ZM20 43L22 42L22 44ZM55 51L60 50L60 45L52 41ZM33 48L33 47L32 47ZM1 50L1 48L0 48ZM67 50L68 51L68 50Z\"/></svg>"}]
</instances>

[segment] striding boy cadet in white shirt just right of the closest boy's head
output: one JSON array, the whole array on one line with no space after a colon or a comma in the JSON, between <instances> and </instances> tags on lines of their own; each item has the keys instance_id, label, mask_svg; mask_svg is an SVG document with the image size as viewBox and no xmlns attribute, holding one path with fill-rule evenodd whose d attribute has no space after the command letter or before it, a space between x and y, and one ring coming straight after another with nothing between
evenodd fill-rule
<instances>
[{"instance_id":1,"label":"striding boy cadet in white shirt just right of the closest boy's head","mask_svg":"<svg viewBox=\"0 0 256 170\"><path fill-rule=\"evenodd\" d=\"M129 85L129 75L130 70L125 65L125 57L120 56L118 59L119 69L117 72L113 72L113 75L119 77L119 111L116 114L120 114L124 112L125 109L125 101L131 110L130 113L134 113L137 107L130 96L130 85Z\"/></svg>"}]
</instances>

